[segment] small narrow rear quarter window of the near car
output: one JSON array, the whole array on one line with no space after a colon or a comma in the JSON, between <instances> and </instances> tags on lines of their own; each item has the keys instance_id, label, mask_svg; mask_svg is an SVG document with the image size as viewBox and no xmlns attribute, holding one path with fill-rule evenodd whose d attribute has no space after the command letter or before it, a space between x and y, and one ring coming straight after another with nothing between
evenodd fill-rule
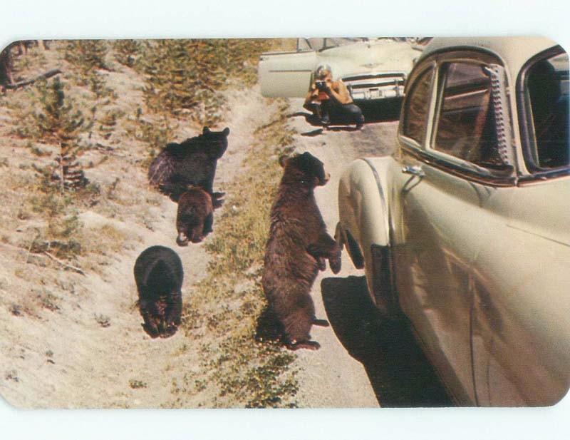
<instances>
[{"instance_id":1,"label":"small narrow rear quarter window of the near car","mask_svg":"<svg viewBox=\"0 0 570 440\"><path fill-rule=\"evenodd\" d=\"M433 68L427 68L415 79L405 100L402 134L423 144L430 108L430 91Z\"/></svg>"}]
</instances>

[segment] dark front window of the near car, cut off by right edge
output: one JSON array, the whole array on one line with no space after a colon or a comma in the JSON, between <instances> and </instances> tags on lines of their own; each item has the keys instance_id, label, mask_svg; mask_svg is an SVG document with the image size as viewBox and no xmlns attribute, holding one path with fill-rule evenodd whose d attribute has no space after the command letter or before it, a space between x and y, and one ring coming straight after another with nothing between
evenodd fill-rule
<instances>
[{"instance_id":1,"label":"dark front window of the near car, cut off by right edge","mask_svg":"<svg viewBox=\"0 0 570 440\"><path fill-rule=\"evenodd\" d=\"M568 53L550 56L529 67L527 90L534 131L534 161L539 168L568 166Z\"/></svg>"}]
</instances>

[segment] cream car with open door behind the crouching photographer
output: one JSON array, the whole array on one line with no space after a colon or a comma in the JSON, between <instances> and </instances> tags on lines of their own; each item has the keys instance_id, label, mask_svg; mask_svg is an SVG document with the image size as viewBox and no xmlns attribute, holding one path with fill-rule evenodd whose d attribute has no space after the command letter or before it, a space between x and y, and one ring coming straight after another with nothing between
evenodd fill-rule
<instances>
[{"instance_id":1,"label":"cream car with open door behind the crouching photographer","mask_svg":"<svg viewBox=\"0 0 570 440\"><path fill-rule=\"evenodd\" d=\"M297 39L296 51L263 53L261 94L304 98L318 66L330 66L359 106L401 101L405 79L423 47L388 38Z\"/></svg>"}]
</instances>

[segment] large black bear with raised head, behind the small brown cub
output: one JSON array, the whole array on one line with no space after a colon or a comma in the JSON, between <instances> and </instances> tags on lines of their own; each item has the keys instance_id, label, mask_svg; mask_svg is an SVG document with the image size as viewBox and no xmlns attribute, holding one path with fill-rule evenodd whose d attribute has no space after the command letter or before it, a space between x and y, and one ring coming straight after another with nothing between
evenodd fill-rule
<instances>
[{"instance_id":1,"label":"large black bear with raised head, behind the small brown cub","mask_svg":"<svg viewBox=\"0 0 570 440\"><path fill-rule=\"evenodd\" d=\"M229 128L210 131L182 143L169 143L150 163L150 183L177 202L189 185L201 186L212 195L214 205L223 193L214 193L217 160L227 149Z\"/></svg>"}]
</instances>

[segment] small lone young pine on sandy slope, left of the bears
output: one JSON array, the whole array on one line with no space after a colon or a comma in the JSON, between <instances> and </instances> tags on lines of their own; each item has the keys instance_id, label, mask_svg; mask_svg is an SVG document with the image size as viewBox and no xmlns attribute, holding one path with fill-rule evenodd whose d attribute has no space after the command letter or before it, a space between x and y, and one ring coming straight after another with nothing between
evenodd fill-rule
<instances>
[{"instance_id":1,"label":"small lone young pine on sandy slope, left of the bears","mask_svg":"<svg viewBox=\"0 0 570 440\"><path fill-rule=\"evenodd\" d=\"M41 111L35 114L38 128L47 140L59 145L52 180L58 180L62 189L85 187L88 180L77 160L81 154L79 135L88 129L81 111L66 99L59 78L40 86L40 103Z\"/></svg>"}]
</instances>

